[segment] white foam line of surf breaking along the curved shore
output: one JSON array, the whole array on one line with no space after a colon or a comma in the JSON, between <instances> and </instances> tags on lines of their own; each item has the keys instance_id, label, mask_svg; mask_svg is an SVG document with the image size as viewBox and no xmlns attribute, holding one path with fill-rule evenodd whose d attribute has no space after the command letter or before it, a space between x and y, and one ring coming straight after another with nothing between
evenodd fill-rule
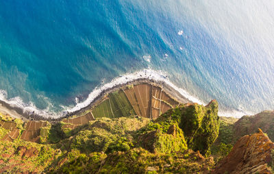
<instances>
[{"instance_id":1,"label":"white foam line of surf breaking along the curved shore","mask_svg":"<svg viewBox=\"0 0 274 174\"><path fill-rule=\"evenodd\" d=\"M82 108L86 108L90 103L95 101L97 97L101 94L101 92L108 90L110 88L114 88L115 86L127 84L130 82L134 82L138 79L149 79L153 80L154 82L164 82L177 92L179 92L181 95L183 95L186 99L189 101L192 101L194 103L199 103L202 105L206 105L203 101L199 100L197 97L194 97L190 95L186 90L179 88L175 86L172 82L169 81L169 79L166 77L166 73L163 71L154 71L152 69L144 69L142 71L137 71L136 73L127 73L123 76L116 77L112 79L111 82L107 84L103 84L101 87L96 87L90 94L88 95L87 99L83 101L82 103L77 103L74 107L66 107L63 106L64 110L62 112L51 112L49 111L49 108L45 110L40 110L36 108L34 103L29 102L29 103L24 103L23 100L20 97L14 97L12 99L7 99L7 92L5 90L0 90L0 100L5 101L5 103L8 103L10 106L13 108L21 108L24 113L32 113L32 114L37 114L40 116L43 116L45 118L53 118L53 119L58 119L61 116L64 116L64 114L70 114L73 112L77 112L81 110ZM234 111L228 111L228 112L219 112L219 115L221 116L236 116L240 117L243 115L246 115L247 112L244 112L242 110L234 110Z\"/></svg>"}]
</instances>

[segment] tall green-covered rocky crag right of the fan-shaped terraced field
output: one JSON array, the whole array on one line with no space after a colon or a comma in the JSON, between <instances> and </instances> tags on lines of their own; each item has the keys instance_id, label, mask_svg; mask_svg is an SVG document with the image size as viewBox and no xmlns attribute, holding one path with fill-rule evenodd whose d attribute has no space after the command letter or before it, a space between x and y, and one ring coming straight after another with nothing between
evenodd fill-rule
<instances>
[{"instance_id":1,"label":"tall green-covered rocky crag right of the fan-shaped terraced field","mask_svg":"<svg viewBox=\"0 0 274 174\"><path fill-rule=\"evenodd\" d=\"M219 134L218 103L208 105L184 104L162 114L156 122L171 120L178 123L184 132L188 148L206 155Z\"/></svg>"}]
</instances>

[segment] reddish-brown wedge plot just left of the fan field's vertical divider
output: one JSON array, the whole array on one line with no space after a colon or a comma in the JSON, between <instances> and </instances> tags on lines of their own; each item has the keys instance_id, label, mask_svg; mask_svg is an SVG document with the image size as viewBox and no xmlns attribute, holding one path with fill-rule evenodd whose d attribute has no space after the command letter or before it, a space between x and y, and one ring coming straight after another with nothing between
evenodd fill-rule
<instances>
[{"instance_id":1,"label":"reddish-brown wedge plot just left of the fan field's vertical divider","mask_svg":"<svg viewBox=\"0 0 274 174\"><path fill-rule=\"evenodd\" d=\"M134 92L143 117L150 118L151 90L149 84L139 84L134 86Z\"/></svg>"}]
</instances>

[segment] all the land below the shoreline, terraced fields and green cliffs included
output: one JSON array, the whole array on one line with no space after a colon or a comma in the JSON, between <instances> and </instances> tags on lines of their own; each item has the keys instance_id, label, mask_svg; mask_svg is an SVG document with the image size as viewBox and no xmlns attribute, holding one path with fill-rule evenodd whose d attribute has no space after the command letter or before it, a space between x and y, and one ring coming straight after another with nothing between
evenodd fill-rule
<instances>
[{"instance_id":1,"label":"all the land below the shoreline, terraced fields and green cliffs included","mask_svg":"<svg viewBox=\"0 0 274 174\"><path fill-rule=\"evenodd\" d=\"M271 173L273 169L268 155L273 151L271 140L262 131L245 136L260 127L272 139L273 112L241 119L220 117L215 100L206 106L183 104L153 84L123 86L60 121L0 116L0 173ZM261 139L271 146L264 149ZM252 153L259 149L260 154ZM266 160L260 160L262 156ZM239 162L236 171L233 161ZM249 167L257 164L256 169Z\"/></svg>"}]
</instances>

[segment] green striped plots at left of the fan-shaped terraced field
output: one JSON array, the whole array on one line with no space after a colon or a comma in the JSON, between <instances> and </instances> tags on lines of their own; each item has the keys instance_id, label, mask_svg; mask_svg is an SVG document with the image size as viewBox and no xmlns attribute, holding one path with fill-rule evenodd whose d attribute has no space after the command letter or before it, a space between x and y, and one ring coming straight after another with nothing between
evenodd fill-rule
<instances>
[{"instance_id":1,"label":"green striped plots at left of the fan-shaped terraced field","mask_svg":"<svg viewBox=\"0 0 274 174\"><path fill-rule=\"evenodd\" d=\"M97 105L97 107L92 110L92 114L95 118L116 118L121 116L136 115L123 90L112 92L108 95L108 97L108 99L105 99L105 101Z\"/></svg>"}]
</instances>

